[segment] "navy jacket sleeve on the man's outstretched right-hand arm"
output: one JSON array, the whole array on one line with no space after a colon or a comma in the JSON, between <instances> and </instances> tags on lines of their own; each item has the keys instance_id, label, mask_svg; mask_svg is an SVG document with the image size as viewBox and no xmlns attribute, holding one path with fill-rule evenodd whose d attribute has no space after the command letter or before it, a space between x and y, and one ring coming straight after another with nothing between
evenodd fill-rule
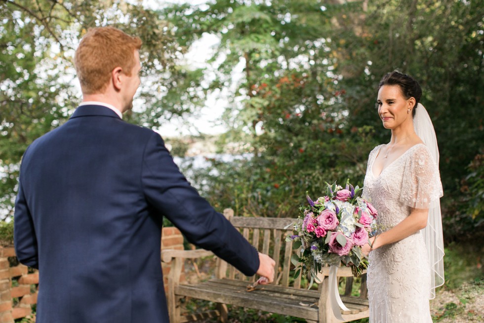
<instances>
[{"instance_id":1,"label":"navy jacket sleeve on the man's outstretched right-hand arm","mask_svg":"<svg viewBox=\"0 0 484 323\"><path fill-rule=\"evenodd\" d=\"M193 188L154 133L145 148L142 185L148 202L186 238L252 276L259 268L257 250Z\"/></svg>"}]
</instances>

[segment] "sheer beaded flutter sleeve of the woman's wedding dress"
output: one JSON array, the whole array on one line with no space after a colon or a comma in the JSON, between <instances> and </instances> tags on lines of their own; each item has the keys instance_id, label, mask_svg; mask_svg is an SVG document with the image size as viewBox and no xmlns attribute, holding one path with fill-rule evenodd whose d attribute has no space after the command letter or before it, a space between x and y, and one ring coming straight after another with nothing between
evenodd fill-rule
<instances>
[{"instance_id":1,"label":"sheer beaded flutter sleeve of the woman's wedding dress","mask_svg":"<svg viewBox=\"0 0 484 323\"><path fill-rule=\"evenodd\" d=\"M422 145L405 163L400 202L416 209L428 209L444 195L437 165Z\"/></svg>"}]
</instances>

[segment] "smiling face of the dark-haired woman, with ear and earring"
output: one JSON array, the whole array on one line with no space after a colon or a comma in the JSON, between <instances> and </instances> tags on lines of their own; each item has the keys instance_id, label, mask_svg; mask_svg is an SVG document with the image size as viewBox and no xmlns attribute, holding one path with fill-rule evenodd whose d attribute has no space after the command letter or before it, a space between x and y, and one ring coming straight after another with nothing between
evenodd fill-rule
<instances>
[{"instance_id":1,"label":"smiling face of the dark-haired woman, with ear and earring","mask_svg":"<svg viewBox=\"0 0 484 323\"><path fill-rule=\"evenodd\" d=\"M386 129L395 129L412 120L415 99L405 99L398 85L384 85L378 91L378 115ZM410 111L408 111L410 109Z\"/></svg>"}]
</instances>

